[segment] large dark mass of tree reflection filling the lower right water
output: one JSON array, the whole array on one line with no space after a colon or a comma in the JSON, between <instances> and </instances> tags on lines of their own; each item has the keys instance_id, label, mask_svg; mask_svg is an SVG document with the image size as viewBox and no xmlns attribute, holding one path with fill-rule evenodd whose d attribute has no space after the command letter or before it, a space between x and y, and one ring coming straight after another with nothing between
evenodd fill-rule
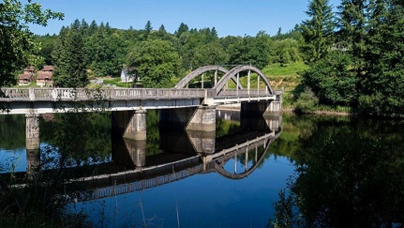
<instances>
[{"instance_id":1,"label":"large dark mass of tree reflection filling the lower right water","mask_svg":"<svg viewBox=\"0 0 404 228\"><path fill-rule=\"evenodd\" d=\"M288 194L279 194L270 225L404 224L402 126L370 122L319 121L310 136L299 139L295 176Z\"/></svg>"}]
</instances>

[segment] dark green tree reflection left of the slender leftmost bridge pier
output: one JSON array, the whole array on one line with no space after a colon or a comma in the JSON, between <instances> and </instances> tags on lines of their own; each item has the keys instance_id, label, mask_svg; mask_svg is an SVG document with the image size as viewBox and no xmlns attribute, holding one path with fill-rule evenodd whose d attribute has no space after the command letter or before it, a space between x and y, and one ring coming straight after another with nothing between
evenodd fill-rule
<instances>
[{"instance_id":1,"label":"dark green tree reflection left of the slender leftmost bridge pier","mask_svg":"<svg viewBox=\"0 0 404 228\"><path fill-rule=\"evenodd\" d=\"M0 115L0 148L6 150L25 147L25 116Z\"/></svg>"}]
</instances>

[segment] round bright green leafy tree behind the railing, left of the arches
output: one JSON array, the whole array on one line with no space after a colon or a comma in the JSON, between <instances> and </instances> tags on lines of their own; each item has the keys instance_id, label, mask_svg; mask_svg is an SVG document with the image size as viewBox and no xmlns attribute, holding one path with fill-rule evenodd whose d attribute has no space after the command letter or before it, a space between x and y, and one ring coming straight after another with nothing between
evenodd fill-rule
<instances>
[{"instance_id":1,"label":"round bright green leafy tree behind the railing, left of the arches","mask_svg":"<svg viewBox=\"0 0 404 228\"><path fill-rule=\"evenodd\" d=\"M127 65L142 78L144 87L171 87L171 79L179 75L181 59L170 42L154 39L132 48Z\"/></svg>"}]
</instances>

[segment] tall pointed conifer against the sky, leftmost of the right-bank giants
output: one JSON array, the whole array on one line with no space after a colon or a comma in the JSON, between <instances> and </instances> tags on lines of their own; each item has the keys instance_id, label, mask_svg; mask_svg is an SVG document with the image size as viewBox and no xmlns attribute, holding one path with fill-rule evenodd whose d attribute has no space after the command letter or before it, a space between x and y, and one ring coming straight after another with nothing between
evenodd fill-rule
<instances>
[{"instance_id":1,"label":"tall pointed conifer against the sky, leftmost of the right-bank giants","mask_svg":"<svg viewBox=\"0 0 404 228\"><path fill-rule=\"evenodd\" d=\"M302 22L301 33L306 59L315 62L324 58L333 44L334 15L328 0L313 0L306 14L310 19Z\"/></svg>"}]
</instances>

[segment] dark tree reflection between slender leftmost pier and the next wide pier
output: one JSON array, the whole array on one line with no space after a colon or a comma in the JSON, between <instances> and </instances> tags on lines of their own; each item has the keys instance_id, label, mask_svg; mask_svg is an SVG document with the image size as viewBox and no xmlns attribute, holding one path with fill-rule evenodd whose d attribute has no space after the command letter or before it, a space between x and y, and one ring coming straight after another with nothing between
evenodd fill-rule
<instances>
[{"instance_id":1,"label":"dark tree reflection between slender leftmost pier and the next wide pier","mask_svg":"<svg viewBox=\"0 0 404 228\"><path fill-rule=\"evenodd\" d=\"M111 116L107 113L64 113L41 121L41 140L57 148L65 162L82 165L111 155ZM51 148L47 148L51 149Z\"/></svg>"}]
</instances>

